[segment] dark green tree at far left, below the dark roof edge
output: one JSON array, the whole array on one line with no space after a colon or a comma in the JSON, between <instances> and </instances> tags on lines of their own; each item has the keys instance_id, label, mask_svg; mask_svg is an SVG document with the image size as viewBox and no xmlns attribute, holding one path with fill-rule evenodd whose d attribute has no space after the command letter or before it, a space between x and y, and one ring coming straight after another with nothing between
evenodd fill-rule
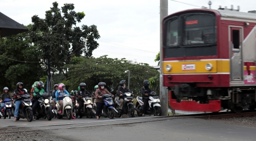
<instances>
[{"instance_id":1,"label":"dark green tree at far left, below the dark roof edge","mask_svg":"<svg viewBox=\"0 0 256 141\"><path fill-rule=\"evenodd\" d=\"M27 26L31 29L31 25ZM30 39L30 32L12 35L0 43L0 88L16 89L18 82L24 83L24 88L31 85L44 74L44 66L38 57L38 47Z\"/></svg>"}]
</instances>

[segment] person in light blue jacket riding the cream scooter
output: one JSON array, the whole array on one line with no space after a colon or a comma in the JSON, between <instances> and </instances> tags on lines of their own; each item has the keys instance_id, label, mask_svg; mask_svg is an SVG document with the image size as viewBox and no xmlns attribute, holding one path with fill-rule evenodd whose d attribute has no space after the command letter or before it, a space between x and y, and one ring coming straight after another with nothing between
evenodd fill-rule
<instances>
[{"instance_id":1,"label":"person in light blue jacket riding the cream scooter","mask_svg":"<svg viewBox=\"0 0 256 141\"><path fill-rule=\"evenodd\" d=\"M64 97L62 97L61 95L62 94L67 94L69 96L69 93L66 89L66 86L64 84L59 84L58 86L58 90L55 92L55 100L56 102L59 101L60 103L60 111L59 111L59 114L62 114L62 102L63 102L63 99ZM71 118L72 119L75 119L75 117L73 116L73 112L71 112Z\"/></svg>"}]
</instances>

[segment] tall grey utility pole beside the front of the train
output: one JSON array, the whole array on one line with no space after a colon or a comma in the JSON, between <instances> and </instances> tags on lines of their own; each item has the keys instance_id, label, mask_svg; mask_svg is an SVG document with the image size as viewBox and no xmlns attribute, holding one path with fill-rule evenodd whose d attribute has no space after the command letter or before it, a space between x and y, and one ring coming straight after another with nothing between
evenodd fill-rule
<instances>
[{"instance_id":1,"label":"tall grey utility pole beside the front of the train","mask_svg":"<svg viewBox=\"0 0 256 141\"><path fill-rule=\"evenodd\" d=\"M168 0L160 0L160 105L162 116L168 116L168 91L163 86L163 27L164 17L168 16Z\"/></svg>"}]
</instances>

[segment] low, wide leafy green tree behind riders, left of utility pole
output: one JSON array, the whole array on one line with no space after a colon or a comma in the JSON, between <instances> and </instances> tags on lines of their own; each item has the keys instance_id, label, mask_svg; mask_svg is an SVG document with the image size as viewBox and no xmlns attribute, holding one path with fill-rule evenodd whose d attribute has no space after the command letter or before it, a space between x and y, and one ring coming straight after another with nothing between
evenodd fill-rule
<instances>
[{"instance_id":1,"label":"low, wide leafy green tree behind riders, left of utility pole","mask_svg":"<svg viewBox=\"0 0 256 141\"><path fill-rule=\"evenodd\" d=\"M100 58L72 58L79 60L72 65L66 65L68 68L68 80L65 84L71 89L76 90L79 83L86 83L86 89L94 91L94 86L99 82L105 82L106 88L114 92L119 88L119 82L126 80L128 86L128 74L124 72L130 71L130 90L135 94L140 92L143 86L143 81L158 74L158 72L148 64L138 63L130 64L125 58L107 58L107 55Z\"/></svg>"}]
</instances>

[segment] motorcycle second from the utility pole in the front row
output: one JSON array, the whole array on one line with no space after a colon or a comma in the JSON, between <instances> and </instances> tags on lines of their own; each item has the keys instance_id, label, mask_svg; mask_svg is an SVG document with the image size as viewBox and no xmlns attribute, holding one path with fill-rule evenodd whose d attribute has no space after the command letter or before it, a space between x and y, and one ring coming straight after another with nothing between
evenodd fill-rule
<instances>
[{"instance_id":1,"label":"motorcycle second from the utility pole in the front row","mask_svg":"<svg viewBox=\"0 0 256 141\"><path fill-rule=\"evenodd\" d=\"M122 93L120 91L120 93ZM132 92L133 93L133 92ZM125 93L122 93L123 96L126 96L124 98L124 105L123 105L123 109L122 112L118 112L117 113L117 117L121 117L123 114L128 114L129 117L133 117L134 116L134 105L133 105L133 96L132 96L132 93L130 92L125 92ZM118 110L119 107L120 107L120 101L118 98L115 99L116 101L116 105L115 105L115 108ZM119 110L118 110L119 111Z\"/></svg>"}]
</instances>

